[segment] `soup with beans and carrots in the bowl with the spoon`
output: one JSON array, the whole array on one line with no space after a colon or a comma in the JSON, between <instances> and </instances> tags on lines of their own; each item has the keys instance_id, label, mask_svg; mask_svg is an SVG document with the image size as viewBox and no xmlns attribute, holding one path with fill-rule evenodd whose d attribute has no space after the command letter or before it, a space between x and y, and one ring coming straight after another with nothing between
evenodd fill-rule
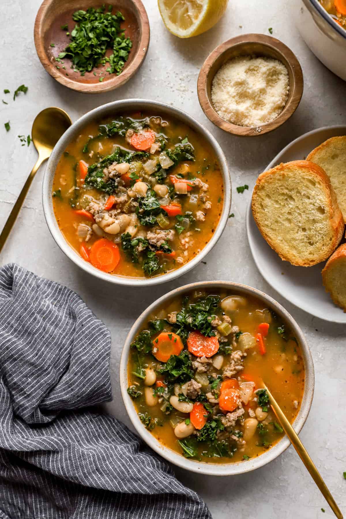
<instances>
[{"instance_id":1,"label":"soup with beans and carrots in the bowl with the spoon","mask_svg":"<svg viewBox=\"0 0 346 519\"><path fill-rule=\"evenodd\" d=\"M192 292L151 316L131 345L128 393L143 426L191 459L260 456L284 433L262 380L292 423L305 368L287 323L258 299Z\"/></svg>"}]
</instances>

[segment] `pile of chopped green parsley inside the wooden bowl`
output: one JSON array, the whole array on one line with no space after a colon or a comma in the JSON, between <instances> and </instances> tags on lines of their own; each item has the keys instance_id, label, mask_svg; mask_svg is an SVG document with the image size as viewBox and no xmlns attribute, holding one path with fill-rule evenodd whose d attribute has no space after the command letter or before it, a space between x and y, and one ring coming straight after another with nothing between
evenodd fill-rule
<instances>
[{"instance_id":1,"label":"pile of chopped green parsley inside the wooden bowl","mask_svg":"<svg viewBox=\"0 0 346 519\"><path fill-rule=\"evenodd\" d=\"M72 18L76 25L71 32L71 42L60 52L58 59L70 58L74 69L79 70L82 76L105 63L109 63L106 69L109 74L120 74L129 57L132 42L120 28L123 15L119 11L113 15L111 10L112 6L105 12L103 5L98 9L90 7L87 11L75 11ZM63 25L62 28L67 27ZM113 53L107 57L106 50L110 48Z\"/></svg>"}]
</instances>

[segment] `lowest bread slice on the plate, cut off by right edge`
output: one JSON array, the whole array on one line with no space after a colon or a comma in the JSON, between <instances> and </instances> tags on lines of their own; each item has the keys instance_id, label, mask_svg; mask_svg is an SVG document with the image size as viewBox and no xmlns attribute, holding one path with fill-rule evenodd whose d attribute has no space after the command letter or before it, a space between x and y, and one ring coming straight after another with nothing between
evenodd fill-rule
<instances>
[{"instance_id":1,"label":"lowest bread slice on the plate, cut off by right edge","mask_svg":"<svg viewBox=\"0 0 346 519\"><path fill-rule=\"evenodd\" d=\"M330 256L322 270L322 280L334 303L346 312L346 243Z\"/></svg>"}]
</instances>

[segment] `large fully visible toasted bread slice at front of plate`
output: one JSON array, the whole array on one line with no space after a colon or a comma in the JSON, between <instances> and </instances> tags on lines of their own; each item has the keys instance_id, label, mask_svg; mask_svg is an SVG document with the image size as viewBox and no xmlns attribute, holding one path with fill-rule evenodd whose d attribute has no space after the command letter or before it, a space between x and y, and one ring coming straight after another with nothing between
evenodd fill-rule
<instances>
[{"instance_id":1,"label":"large fully visible toasted bread slice at front of plate","mask_svg":"<svg viewBox=\"0 0 346 519\"><path fill-rule=\"evenodd\" d=\"M252 195L255 222L282 260L309 267L326 260L344 229L328 175L307 160L260 174Z\"/></svg>"}]
</instances>

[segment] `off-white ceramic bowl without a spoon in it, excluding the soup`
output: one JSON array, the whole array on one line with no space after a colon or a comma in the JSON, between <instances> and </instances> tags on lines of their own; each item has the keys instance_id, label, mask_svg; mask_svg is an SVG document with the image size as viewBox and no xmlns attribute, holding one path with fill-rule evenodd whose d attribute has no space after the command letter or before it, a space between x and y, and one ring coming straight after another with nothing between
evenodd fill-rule
<instances>
[{"instance_id":1,"label":"off-white ceramic bowl without a spoon in it, excluding the soup","mask_svg":"<svg viewBox=\"0 0 346 519\"><path fill-rule=\"evenodd\" d=\"M178 121L183 122L192 128L192 130L199 133L203 139L205 139L207 144L211 146L212 151L215 154L215 157L219 163L224 184L224 206L211 240L205 245L201 252L193 257L192 260L188 263L182 265L179 268L176 268L171 272L168 272L168 274L162 274L153 278L135 278L107 274L106 272L103 272L102 270L93 267L90 263L84 261L66 241L64 235L62 234L57 222L57 218L54 214L52 201L54 174L56 172L59 160L68 144L70 144L74 139L77 139L77 136L80 134L81 130L93 121L101 121L107 117L114 117L116 115L121 115L122 113L130 111L140 112L142 110L152 111L155 115L167 115L168 117L172 117ZM74 124L63 134L56 146L54 146L54 149L47 163L42 186L42 202L46 222L54 240L59 245L60 249L66 254L68 258L70 258L70 260L72 260L78 267L88 272L88 274L110 283L127 286L149 286L172 281L175 278L183 276L186 274L186 272L198 265L198 263L200 263L203 258L212 250L226 227L231 207L231 194L231 179L226 157L213 135L208 130L206 130L196 119L188 115L186 112L179 110L179 108L174 108L168 104L159 103L157 101L148 101L145 99L127 99L104 104L98 108L94 108L94 110L91 110L84 116L80 117L76 122L74 122Z\"/></svg>"}]
</instances>

